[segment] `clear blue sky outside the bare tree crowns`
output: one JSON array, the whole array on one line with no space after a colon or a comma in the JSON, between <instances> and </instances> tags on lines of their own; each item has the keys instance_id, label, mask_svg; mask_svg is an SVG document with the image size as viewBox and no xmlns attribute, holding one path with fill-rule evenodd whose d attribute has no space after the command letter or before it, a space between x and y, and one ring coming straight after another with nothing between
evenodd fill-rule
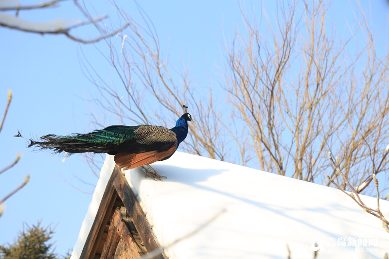
<instances>
[{"instance_id":1,"label":"clear blue sky outside the bare tree crowns","mask_svg":"<svg viewBox=\"0 0 389 259\"><path fill-rule=\"evenodd\" d=\"M120 6L123 4L121 1L117 3ZM249 2L246 4L251 5ZM189 64L196 84L208 86L213 80L215 66L221 66L218 38L223 39L223 29L227 33L235 23L241 22L239 2L149 0L140 1L140 5L154 22L161 50L165 55L170 55L172 64L177 67L181 61ZM259 14L261 5L253 5ZM106 2L93 1L93 6L97 14L109 13L115 20L115 13ZM339 25L338 32L345 31L345 17L352 20L350 6L356 8L354 1L334 3L331 8ZM133 14L134 19L139 15L133 4L125 4L123 8ZM271 16L274 6L266 8ZM378 30L387 23L387 2L371 2L371 13L374 14L371 23ZM55 17L82 18L71 1L64 2L56 9L25 11L20 17L36 21ZM91 27L75 33L86 38L97 35ZM385 31L382 37L385 39ZM24 139L12 136L17 134L18 129L27 138L93 130L89 124L88 104L91 103L86 100L90 100L97 91L83 75L80 67L81 49L93 67L103 77L109 78L112 68L97 51L107 53L104 42L95 46L80 46L64 36L41 36L0 28L1 116L7 90L13 91L13 100L0 133L0 168L11 163L18 152L23 153L14 168L0 175L0 197L16 188L27 173L31 174L28 185L6 202L6 210L0 218L0 244L13 242L23 222L32 225L38 220L42 220L43 226L56 225L53 241L56 241L57 253L65 254L76 242L91 195L75 190L67 181L92 192L92 186L81 184L75 176L91 184L97 182L97 177L90 173L81 156L68 157L63 163L62 157L47 152L32 152L26 148ZM99 111L96 112L102 116Z\"/></svg>"}]
</instances>

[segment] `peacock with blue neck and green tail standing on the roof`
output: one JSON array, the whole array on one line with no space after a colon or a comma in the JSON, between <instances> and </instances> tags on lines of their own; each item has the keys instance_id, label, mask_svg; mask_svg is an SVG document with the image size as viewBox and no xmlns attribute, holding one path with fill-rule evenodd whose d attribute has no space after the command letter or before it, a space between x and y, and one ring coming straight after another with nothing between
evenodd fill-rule
<instances>
[{"instance_id":1,"label":"peacock with blue neck and green tail standing on the roof","mask_svg":"<svg viewBox=\"0 0 389 259\"><path fill-rule=\"evenodd\" d=\"M183 107L185 113L171 129L152 125L114 125L86 134L45 135L40 137L41 141L30 139L28 147L50 149L53 153L66 152L65 156L86 152L107 153L114 155L120 169L141 167L146 177L162 181L161 178L166 179L166 176L159 175L150 164L170 158L188 135L188 121L193 120L186 110L188 106ZM15 137L22 137L19 131Z\"/></svg>"}]
</instances>

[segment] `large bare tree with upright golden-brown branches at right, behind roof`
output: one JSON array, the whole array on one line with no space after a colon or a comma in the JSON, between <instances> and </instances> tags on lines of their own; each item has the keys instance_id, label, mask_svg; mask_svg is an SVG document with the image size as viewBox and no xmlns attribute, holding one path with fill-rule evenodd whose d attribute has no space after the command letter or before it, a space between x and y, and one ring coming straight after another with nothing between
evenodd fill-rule
<instances>
[{"instance_id":1,"label":"large bare tree with upright golden-brown branches at right, behind roof","mask_svg":"<svg viewBox=\"0 0 389 259\"><path fill-rule=\"evenodd\" d=\"M371 156L389 137L383 116L389 56L375 51L362 9L358 26L339 39L335 25L326 29L329 7L320 0L279 1L276 21L265 15L267 34L242 9L245 31L236 29L225 44L224 85L233 119L250 136L249 149L262 170L323 184L331 168L326 155L336 150L346 176L359 186L374 165ZM354 42L358 33L367 35L363 46ZM349 50L353 43L356 53ZM332 180L348 189L338 176Z\"/></svg>"}]
</instances>

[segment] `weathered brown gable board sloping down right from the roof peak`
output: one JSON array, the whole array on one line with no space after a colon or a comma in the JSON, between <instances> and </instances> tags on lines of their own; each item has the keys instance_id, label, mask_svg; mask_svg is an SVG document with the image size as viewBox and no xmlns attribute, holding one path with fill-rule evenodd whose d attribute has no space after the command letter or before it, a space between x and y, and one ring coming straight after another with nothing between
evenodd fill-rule
<instances>
[{"instance_id":1,"label":"weathered brown gable board sloping down right from the roof peak","mask_svg":"<svg viewBox=\"0 0 389 259\"><path fill-rule=\"evenodd\" d=\"M112 175L114 175L113 185L123 201L124 207L127 209L127 213L131 218L131 221L134 223L145 248L148 252L159 251L159 254L153 257L153 259L164 259L165 257L159 249L157 241L151 231L146 217L143 214L141 206L136 200L127 180L124 178L124 175L117 166L115 166Z\"/></svg>"}]
</instances>

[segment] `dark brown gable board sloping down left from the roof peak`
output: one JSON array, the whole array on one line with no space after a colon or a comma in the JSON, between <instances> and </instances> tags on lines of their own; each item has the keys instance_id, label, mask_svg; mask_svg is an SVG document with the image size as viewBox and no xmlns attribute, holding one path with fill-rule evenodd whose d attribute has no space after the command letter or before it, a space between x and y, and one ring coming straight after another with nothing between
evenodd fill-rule
<instances>
[{"instance_id":1,"label":"dark brown gable board sloping down left from the roof peak","mask_svg":"<svg viewBox=\"0 0 389 259\"><path fill-rule=\"evenodd\" d=\"M110 218L110 212L115 204L117 192L113 187L114 175L112 173L106 185L103 198L101 200L96 217L89 231L88 238L84 244L80 259L93 259L99 245L99 241L104 233L105 224ZM101 253L101 251L99 251Z\"/></svg>"}]
</instances>

